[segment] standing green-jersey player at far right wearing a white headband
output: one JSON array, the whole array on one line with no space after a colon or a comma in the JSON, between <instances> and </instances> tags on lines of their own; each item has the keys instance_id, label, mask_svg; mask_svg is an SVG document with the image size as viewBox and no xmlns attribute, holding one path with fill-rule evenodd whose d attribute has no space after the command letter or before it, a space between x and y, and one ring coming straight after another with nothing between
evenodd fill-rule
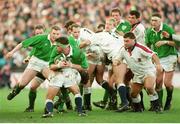
<instances>
[{"instance_id":1,"label":"standing green-jersey player at far right wearing a white headband","mask_svg":"<svg viewBox=\"0 0 180 124\"><path fill-rule=\"evenodd\" d=\"M168 32L170 35L175 33L171 27L162 22L162 17L159 13L153 14L151 17L151 28L147 29L146 33L146 44L147 46L151 47L152 50L156 52L158 57L160 58L163 72L159 73L157 76L156 90L159 95L160 103L163 106L162 85L164 82L167 91L164 110L169 110L171 107L173 95L172 78L177 62L177 51L175 49L176 43L170 38L166 38L163 36L164 31Z\"/></svg>"}]
</instances>

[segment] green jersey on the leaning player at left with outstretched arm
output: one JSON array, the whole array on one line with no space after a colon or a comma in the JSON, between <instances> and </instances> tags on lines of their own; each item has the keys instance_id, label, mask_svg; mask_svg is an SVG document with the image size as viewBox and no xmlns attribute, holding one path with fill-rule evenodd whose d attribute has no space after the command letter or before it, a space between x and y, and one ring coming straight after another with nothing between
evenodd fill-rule
<instances>
[{"instance_id":1,"label":"green jersey on the leaning player at left with outstretched arm","mask_svg":"<svg viewBox=\"0 0 180 124\"><path fill-rule=\"evenodd\" d=\"M29 46L33 47L34 51L32 54L34 56L44 61L49 61L53 46L48 36L49 35L33 36L22 41L22 46L24 48Z\"/></svg>"}]
</instances>

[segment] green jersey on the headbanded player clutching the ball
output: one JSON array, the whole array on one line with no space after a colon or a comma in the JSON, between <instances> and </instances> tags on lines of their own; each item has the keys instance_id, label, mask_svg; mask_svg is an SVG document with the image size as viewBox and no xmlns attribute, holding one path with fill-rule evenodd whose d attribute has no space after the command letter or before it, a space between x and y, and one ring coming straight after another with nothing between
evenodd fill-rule
<instances>
[{"instance_id":1,"label":"green jersey on the headbanded player clutching the ball","mask_svg":"<svg viewBox=\"0 0 180 124\"><path fill-rule=\"evenodd\" d=\"M66 58L63 53L58 53L57 47L54 47L51 53L49 65L57 63L58 61L61 60L67 60L67 61L71 61L73 64L81 65L81 67L84 69L87 69L88 62L84 52L77 47L71 46L71 48L72 48L72 55Z\"/></svg>"}]
</instances>

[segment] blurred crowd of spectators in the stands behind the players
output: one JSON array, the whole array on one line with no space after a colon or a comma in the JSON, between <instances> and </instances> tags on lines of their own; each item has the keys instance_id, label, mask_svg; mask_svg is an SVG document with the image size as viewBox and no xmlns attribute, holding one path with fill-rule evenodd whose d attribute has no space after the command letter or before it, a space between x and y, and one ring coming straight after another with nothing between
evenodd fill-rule
<instances>
[{"instance_id":1,"label":"blurred crowd of spectators in the stands behind the players","mask_svg":"<svg viewBox=\"0 0 180 124\"><path fill-rule=\"evenodd\" d=\"M180 0L0 0L0 80L9 76L11 67L21 67L28 51L17 52L11 61L4 55L22 40L33 35L36 24L63 26L71 19L83 27L95 30L105 21L112 8L122 10L127 18L129 10L142 14L145 27L150 25L150 15L160 12L164 22L180 33Z\"/></svg>"}]
</instances>

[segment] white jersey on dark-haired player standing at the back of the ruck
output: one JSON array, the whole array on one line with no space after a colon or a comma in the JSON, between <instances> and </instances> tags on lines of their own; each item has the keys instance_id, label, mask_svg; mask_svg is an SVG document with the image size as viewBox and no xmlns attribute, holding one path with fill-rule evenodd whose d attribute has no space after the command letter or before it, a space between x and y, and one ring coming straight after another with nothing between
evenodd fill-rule
<instances>
[{"instance_id":1,"label":"white jersey on dark-haired player standing at the back of the ruck","mask_svg":"<svg viewBox=\"0 0 180 124\"><path fill-rule=\"evenodd\" d=\"M145 28L144 28L143 24L139 23L139 24L135 25L131 29L131 32L133 32L134 35L136 36L136 41L138 43L145 45Z\"/></svg>"}]
</instances>

